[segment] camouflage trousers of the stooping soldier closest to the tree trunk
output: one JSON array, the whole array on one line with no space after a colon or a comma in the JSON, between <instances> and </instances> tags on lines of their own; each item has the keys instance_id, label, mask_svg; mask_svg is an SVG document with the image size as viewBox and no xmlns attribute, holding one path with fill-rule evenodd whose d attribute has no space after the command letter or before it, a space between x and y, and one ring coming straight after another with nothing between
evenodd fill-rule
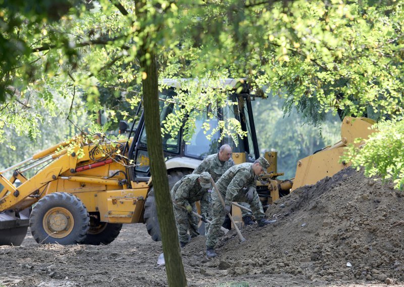
<instances>
[{"instance_id":1,"label":"camouflage trousers of the stooping soldier closest to the tree trunk","mask_svg":"<svg viewBox=\"0 0 404 287\"><path fill-rule=\"evenodd\" d=\"M188 242L188 230L191 237L196 237L199 235L198 232L198 222L199 218L197 218L193 214L188 214L185 209L173 204L174 206L174 216L175 222L178 230L178 238L180 242L187 243ZM191 203L192 211L196 212L195 203Z\"/></svg>"}]
</instances>

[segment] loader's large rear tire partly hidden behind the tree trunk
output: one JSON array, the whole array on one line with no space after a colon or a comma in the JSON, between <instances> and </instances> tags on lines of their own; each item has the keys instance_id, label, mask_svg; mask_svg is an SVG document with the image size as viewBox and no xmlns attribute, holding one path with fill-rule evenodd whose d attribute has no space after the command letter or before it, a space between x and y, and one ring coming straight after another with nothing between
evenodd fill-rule
<instances>
[{"instance_id":1,"label":"loader's large rear tire partly hidden behind the tree trunk","mask_svg":"<svg viewBox=\"0 0 404 287\"><path fill-rule=\"evenodd\" d=\"M178 169L170 171L168 174L168 185L173 188L174 184L180 180L184 175L191 174L189 169ZM169 191L170 191L169 190ZM154 187L150 188L147 194L146 201L144 202L144 222L146 223L146 229L151 239L154 241L161 241L161 231L159 220L157 219L157 206L155 200Z\"/></svg>"}]
</instances>

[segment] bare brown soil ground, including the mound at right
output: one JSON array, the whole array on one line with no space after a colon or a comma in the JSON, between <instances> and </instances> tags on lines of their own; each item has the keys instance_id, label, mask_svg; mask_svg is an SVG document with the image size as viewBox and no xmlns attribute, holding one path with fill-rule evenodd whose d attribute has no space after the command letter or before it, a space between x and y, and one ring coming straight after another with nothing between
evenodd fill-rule
<instances>
[{"instance_id":1,"label":"bare brown soil ground, including the mound at right","mask_svg":"<svg viewBox=\"0 0 404 287\"><path fill-rule=\"evenodd\" d=\"M273 225L222 236L219 256L205 237L182 249L189 286L404 286L404 193L346 169L301 187L267 210ZM0 247L0 286L167 286L162 252L143 224L124 225L107 246Z\"/></svg>"}]
</instances>

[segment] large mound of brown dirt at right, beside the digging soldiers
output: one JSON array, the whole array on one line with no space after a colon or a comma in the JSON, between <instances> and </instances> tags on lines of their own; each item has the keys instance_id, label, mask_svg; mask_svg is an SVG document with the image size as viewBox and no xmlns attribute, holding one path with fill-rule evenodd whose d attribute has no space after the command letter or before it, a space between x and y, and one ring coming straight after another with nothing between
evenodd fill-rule
<instances>
[{"instance_id":1,"label":"large mound of brown dirt at right, beside the digging soldiers","mask_svg":"<svg viewBox=\"0 0 404 287\"><path fill-rule=\"evenodd\" d=\"M281 198L266 212L275 224L244 228L243 244L232 230L221 238L219 256L201 263L246 278L292 274L312 284L402 282L403 196L392 184L348 168ZM185 257L200 258L200 237L184 249Z\"/></svg>"}]
</instances>

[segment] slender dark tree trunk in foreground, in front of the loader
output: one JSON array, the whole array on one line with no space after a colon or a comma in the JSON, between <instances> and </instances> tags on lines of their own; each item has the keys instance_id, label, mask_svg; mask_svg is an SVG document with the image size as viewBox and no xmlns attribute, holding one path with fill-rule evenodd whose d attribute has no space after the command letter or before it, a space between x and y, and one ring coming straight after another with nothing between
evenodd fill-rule
<instances>
[{"instance_id":1,"label":"slender dark tree trunk in foreground, in front of the loader","mask_svg":"<svg viewBox=\"0 0 404 287\"><path fill-rule=\"evenodd\" d=\"M149 53L150 59L147 61L144 57L144 50L142 52L140 65L142 71L146 73L146 78L143 77L142 80L142 87L147 151L150 157L150 172L155 188L157 215L162 235L168 285L172 287L182 287L187 286L187 283L184 266L182 264L162 148L156 55Z\"/></svg>"}]
</instances>

